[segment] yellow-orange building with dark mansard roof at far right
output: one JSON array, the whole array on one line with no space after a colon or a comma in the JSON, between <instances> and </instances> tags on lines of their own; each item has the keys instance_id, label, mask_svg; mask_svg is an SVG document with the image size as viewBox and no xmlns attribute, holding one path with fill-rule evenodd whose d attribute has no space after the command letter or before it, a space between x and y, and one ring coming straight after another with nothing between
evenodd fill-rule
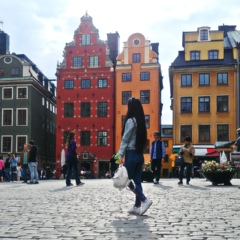
<instances>
[{"instance_id":1,"label":"yellow-orange building with dark mansard roof at far right","mask_svg":"<svg viewBox=\"0 0 240 240\"><path fill-rule=\"evenodd\" d=\"M183 51L169 68L173 145L188 135L193 144L236 139L237 60L235 26L183 32ZM236 40L236 39L235 39Z\"/></svg>"}]
</instances>

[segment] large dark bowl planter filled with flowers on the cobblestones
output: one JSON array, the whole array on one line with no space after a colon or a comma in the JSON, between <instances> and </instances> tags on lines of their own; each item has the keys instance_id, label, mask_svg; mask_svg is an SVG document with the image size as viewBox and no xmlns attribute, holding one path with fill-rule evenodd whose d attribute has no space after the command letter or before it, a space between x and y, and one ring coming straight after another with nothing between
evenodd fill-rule
<instances>
[{"instance_id":1,"label":"large dark bowl planter filled with flowers on the cobblestones","mask_svg":"<svg viewBox=\"0 0 240 240\"><path fill-rule=\"evenodd\" d=\"M228 161L222 163L204 161L201 172L207 180L212 182L212 185L232 185L230 181L237 173L234 166Z\"/></svg>"}]
</instances>

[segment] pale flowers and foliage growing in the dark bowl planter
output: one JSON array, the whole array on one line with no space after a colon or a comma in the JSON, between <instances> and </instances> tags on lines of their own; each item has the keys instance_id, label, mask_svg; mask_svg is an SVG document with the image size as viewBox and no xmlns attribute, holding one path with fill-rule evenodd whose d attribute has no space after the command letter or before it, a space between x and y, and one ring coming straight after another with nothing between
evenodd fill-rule
<instances>
[{"instance_id":1,"label":"pale flowers and foliage growing in the dark bowl planter","mask_svg":"<svg viewBox=\"0 0 240 240\"><path fill-rule=\"evenodd\" d=\"M204 161L202 164L202 171L204 172L232 172L233 166L230 162L218 163L216 161Z\"/></svg>"}]
</instances>

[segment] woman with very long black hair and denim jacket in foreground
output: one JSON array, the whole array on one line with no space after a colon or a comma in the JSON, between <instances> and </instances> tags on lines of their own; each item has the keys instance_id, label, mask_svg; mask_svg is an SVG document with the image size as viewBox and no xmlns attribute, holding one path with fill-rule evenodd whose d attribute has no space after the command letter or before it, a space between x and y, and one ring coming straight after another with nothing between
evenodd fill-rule
<instances>
[{"instance_id":1,"label":"woman with very long black hair and denim jacket in foreground","mask_svg":"<svg viewBox=\"0 0 240 240\"><path fill-rule=\"evenodd\" d=\"M119 164L125 165L130 180L128 187L135 194L135 204L130 214L143 215L152 205L143 193L141 184L144 164L143 151L147 142L147 130L143 107L139 99L128 100L127 114L122 128L122 141L118 150ZM125 162L124 162L125 157Z\"/></svg>"}]
</instances>

